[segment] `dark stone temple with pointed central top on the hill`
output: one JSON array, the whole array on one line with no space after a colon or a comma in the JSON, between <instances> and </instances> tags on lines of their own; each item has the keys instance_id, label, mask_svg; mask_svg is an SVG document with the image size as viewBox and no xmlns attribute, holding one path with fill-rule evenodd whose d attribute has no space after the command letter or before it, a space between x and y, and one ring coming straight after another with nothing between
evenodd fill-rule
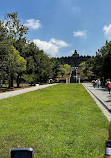
<instances>
[{"instance_id":1,"label":"dark stone temple with pointed central top on the hill","mask_svg":"<svg viewBox=\"0 0 111 158\"><path fill-rule=\"evenodd\" d=\"M57 58L61 63L71 65L71 67L78 67L80 63L87 61L91 56L79 56L77 51L74 51L72 56Z\"/></svg>"}]
</instances>

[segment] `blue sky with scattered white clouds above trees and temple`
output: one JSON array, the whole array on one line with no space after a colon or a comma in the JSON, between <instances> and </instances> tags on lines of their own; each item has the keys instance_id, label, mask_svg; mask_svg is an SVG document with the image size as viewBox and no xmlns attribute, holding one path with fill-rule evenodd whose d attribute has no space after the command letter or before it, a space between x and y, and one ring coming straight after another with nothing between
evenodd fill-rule
<instances>
[{"instance_id":1,"label":"blue sky with scattered white clouds above trees and temple","mask_svg":"<svg viewBox=\"0 0 111 158\"><path fill-rule=\"evenodd\" d=\"M95 56L111 40L111 0L0 0L1 21L13 12L51 57Z\"/></svg>"}]
</instances>

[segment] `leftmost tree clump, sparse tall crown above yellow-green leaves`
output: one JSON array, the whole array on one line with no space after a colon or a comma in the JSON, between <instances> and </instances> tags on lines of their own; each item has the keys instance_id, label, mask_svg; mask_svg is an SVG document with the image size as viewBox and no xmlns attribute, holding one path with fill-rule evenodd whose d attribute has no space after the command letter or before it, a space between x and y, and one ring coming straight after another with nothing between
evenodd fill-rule
<instances>
[{"instance_id":1,"label":"leftmost tree clump, sparse tall crown above yellow-green leaves","mask_svg":"<svg viewBox=\"0 0 111 158\"><path fill-rule=\"evenodd\" d=\"M20 24L17 13L6 14L4 21L0 21L0 75L2 79L8 76L9 80L12 80L9 81L9 83L12 83L11 85L9 84L9 87L13 86L14 73L20 75L25 70L26 62L20 57L20 54L14 50L14 47L21 50L20 44L22 42L23 46L23 41L25 41L23 35L26 34L27 31L28 28ZM17 45L17 43L19 43L19 45ZM10 51L13 53L9 53ZM17 59L17 57L19 59Z\"/></svg>"}]
</instances>

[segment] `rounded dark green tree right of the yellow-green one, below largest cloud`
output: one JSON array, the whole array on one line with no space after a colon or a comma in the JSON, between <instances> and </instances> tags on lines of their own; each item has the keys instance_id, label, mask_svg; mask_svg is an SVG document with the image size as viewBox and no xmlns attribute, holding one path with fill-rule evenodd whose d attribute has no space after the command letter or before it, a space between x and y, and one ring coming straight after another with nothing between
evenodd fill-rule
<instances>
[{"instance_id":1,"label":"rounded dark green tree right of the yellow-green one, below largest cloud","mask_svg":"<svg viewBox=\"0 0 111 158\"><path fill-rule=\"evenodd\" d=\"M23 47L22 55L27 61L28 81L31 83L46 82L51 72L51 61L48 55L43 50L39 50L33 42Z\"/></svg>"}]
</instances>

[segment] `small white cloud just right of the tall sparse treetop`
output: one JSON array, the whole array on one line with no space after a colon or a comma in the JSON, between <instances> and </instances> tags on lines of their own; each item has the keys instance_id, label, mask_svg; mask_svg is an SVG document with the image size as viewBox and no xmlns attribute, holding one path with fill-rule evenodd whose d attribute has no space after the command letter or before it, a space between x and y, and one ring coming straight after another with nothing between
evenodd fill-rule
<instances>
[{"instance_id":1,"label":"small white cloud just right of the tall sparse treetop","mask_svg":"<svg viewBox=\"0 0 111 158\"><path fill-rule=\"evenodd\" d=\"M35 19L27 20L27 23L25 23L24 25L30 27L31 29L38 29L41 27L40 20L35 20Z\"/></svg>"}]
</instances>

